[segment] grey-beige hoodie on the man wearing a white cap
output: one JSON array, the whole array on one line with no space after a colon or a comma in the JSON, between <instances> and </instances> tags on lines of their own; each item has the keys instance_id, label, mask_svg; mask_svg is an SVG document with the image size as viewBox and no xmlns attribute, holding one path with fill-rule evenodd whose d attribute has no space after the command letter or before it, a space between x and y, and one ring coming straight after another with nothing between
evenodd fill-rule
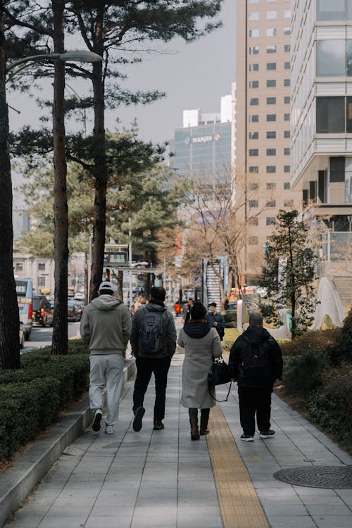
<instances>
[{"instance_id":1,"label":"grey-beige hoodie on the man wearing a white cap","mask_svg":"<svg viewBox=\"0 0 352 528\"><path fill-rule=\"evenodd\" d=\"M111 295L96 297L83 310L80 334L91 355L123 354L131 337L130 310Z\"/></svg>"}]
</instances>

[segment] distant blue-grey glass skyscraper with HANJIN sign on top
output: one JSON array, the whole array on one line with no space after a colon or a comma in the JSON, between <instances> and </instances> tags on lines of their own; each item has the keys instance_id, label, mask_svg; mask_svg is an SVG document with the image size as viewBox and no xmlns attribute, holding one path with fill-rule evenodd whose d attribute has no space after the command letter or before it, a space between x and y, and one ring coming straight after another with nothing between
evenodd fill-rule
<instances>
[{"instance_id":1,"label":"distant blue-grey glass skyscraper with HANJIN sign on top","mask_svg":"<svg viewBox=\"0 0 352 528\"><path fill-rule=\"evenodd\" d=\"M183 127L175 130L172 167L181 177L220 178L231 167L232 97L221 98L220 113L183 112Z\"/></svg>"}]
</instances>

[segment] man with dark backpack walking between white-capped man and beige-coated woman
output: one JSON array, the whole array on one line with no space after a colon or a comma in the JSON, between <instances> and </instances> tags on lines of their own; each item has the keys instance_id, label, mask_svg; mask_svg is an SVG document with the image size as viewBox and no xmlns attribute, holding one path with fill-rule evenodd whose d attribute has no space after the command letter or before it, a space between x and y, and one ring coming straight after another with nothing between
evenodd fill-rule
<instances>
[{"instance_id":1,"label":"man with dark backpack walking between white-capped man and beige-coated woman","mask_svg":"<svg viewBox=\"0 0 352 528\"><path fill-rule=\"evenodd\" d=\"M145 413L144 395L152 373L155 377L156 398L153 429L164 429L165 397L171 358L176 350L176 327L172 313L165 307L166 291L151 288L149 303L139 308L132 318L131 346L136 358L137 377L133 392L133 429L142 429Z\"/></svg>"}]
</instances>

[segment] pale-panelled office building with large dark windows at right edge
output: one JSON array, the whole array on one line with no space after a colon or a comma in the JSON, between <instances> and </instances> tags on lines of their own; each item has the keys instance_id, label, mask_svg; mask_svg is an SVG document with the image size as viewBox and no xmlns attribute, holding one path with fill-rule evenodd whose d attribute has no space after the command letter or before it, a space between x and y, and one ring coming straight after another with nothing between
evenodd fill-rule
<instances>
[{"instance_id":1,"label":"pale-panelled office building with large dark windows at right edge","mask_svg":"<svg viewBox=\"0 0 352 528\"><path fill-rule=\"evenodd\" d=\"M291 187L321 234L318 273L352 297L352 1L295 0Z\"/></svg>"}]
</instances>

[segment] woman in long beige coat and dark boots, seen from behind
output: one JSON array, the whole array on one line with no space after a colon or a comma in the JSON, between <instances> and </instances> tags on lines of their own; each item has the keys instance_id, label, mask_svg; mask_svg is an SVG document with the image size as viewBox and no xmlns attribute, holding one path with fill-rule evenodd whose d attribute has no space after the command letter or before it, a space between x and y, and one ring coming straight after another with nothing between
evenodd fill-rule
<instances>
[{"instance_id":1,"label":"woman in long beige coat and dark boots, seen from behind","mask_svg":"<svg viewBox=\"0 0 352 528\"><path fill-rule=\"evenodd\" d=\"M202 303L196 302L191 307L191 320L180 330L177 343L185 348L181 405L188 408L191 439L199 440L199 434L209 432L210 407L215 406L215 400L208 391L208 372L213 358L218 358L222 354L219 334L215 328L210 328L208 325L206 308ZM201 409L200 431L198 409Z\"/></svg>"}]
</instances>

